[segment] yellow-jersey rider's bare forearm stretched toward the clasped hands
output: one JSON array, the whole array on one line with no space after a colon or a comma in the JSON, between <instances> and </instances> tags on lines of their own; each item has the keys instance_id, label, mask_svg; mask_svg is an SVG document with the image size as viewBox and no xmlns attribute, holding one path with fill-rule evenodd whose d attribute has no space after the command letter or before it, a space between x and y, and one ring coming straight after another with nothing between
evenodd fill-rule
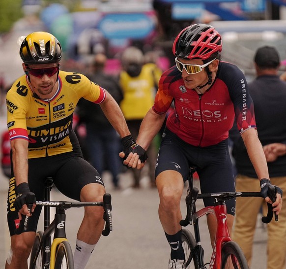
<instances>
[{"instance_id":1,"label":"yellow-jersey rider's bare forearm stretched toward the clasped hands","mask_svg":"<svg viewBox=\"0 0 286 269\"><path fill-rule=\"evenodd\" d=\"M100 103L100 107L107 117L111 125L114 127L116 132L120 135L120 137L124 137L130 134L125 118L122 114L122 111L114 100L114 98L110 95L110 93L106 92L106 99Z\"/></svg>"}]
</instances>

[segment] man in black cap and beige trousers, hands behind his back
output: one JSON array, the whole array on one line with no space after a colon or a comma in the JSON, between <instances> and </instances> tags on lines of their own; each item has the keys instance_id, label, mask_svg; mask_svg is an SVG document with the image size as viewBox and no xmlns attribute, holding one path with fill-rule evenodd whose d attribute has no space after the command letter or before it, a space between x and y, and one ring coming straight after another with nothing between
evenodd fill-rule
<instances>
[{"instance_id":1,"label":"man in black cap and beige trousers, hands behind his back","mask_svg":"<svg viewBox=\"0 0 286 269\"><path fill-rule=\"evenodd\" d=\"M274 47L258 48L255 58L257 78L248 84L254 102L255 118L259 140L262 143L273 185L286 191L286 82L280 80L278 68L280 58ZM232 154L237 169L236 191L259 192L260 184L256 171L248 157L243 140L236 128L232 128ZM237 131L237 130L236 130ZM233 133L234 132L234 133ZM251 265L253 239L257 214L264 199L248 198L236 200L236 221L232 239L242 248L249 266ZM286 207L279 214L279 221L268 225L267 269L285 267L286 258Z\"/></svg>"}]
</instances>

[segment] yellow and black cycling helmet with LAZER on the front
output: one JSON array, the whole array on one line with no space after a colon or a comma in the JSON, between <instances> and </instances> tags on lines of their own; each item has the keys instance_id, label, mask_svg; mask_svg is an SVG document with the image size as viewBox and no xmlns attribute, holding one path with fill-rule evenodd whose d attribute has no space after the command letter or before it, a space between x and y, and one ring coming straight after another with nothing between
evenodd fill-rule
<instances>
[{"instance_id":1,"label":"yellow and black cycling helmet with LAZER on the front","mask_svg":"<svg viewBox=\"0 0 286 269\"><path fill-rule=\"evenodd\" d=\"M53 34L34 32L26 36L20 47L20 57L26 64L51 64L60 61L62 49Z\"/></svg>"}]
</instances>

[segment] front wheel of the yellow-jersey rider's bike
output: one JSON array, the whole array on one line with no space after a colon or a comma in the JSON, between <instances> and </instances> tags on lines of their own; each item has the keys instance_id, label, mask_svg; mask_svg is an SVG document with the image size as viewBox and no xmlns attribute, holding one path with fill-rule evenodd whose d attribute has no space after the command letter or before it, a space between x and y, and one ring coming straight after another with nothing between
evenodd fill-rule
<instances>
[{"instance_id":1,"label":"front wheel of the yellow-jersey rider's bike","mask_svg":"<svg viewBox=\"0 0 286 269\"><path fill-rule=\"evenodd\" d=\"M74 269L74 258L68 241L62 241L57 247L55 269Z\"/></svg>"}]
</instances>

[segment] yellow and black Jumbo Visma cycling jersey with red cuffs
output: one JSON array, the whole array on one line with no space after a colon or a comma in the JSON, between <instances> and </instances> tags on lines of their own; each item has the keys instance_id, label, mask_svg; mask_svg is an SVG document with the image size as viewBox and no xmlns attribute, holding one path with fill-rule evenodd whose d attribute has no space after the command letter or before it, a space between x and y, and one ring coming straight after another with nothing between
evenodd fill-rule
<instances>
[{"instance_id":1,"label":"yellow and black Jumbo Visma cycling jersey with red cuffs","mask_svg":"<svg viewBox=\"0 0 286 269\"><path fill-rule=\"evenodd\" d=\"M6 96L10 140L29 140L29 159L73 151L73 112L84 98L94 103L105 100L105 90L79 73L59 71L57 94L45 101L35 96L28 76L20 77Z\"/></svg>"}]
</instances>

